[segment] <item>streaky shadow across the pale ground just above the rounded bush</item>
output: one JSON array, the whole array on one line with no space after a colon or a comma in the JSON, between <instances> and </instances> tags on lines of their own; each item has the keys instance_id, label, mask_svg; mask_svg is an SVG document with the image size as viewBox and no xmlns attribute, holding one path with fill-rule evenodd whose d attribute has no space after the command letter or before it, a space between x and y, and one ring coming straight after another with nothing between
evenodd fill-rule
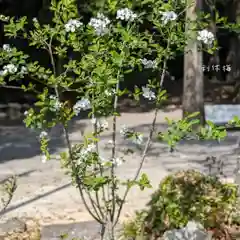
<instances>
[{"instance_id":1,"label":"streaky shadow across the pale ground just above the rounded bush","mask_svg":"<svg viewBox=\"0 0 240 240\"><path fill-rule=\"evenodd\" d=\"M149 124L134 128L135 131L144 133L145 142L148 129L150 129ZM167 124L157 124L156 129L164 132ZM211 172L217 175L220 173L221 176L232 177L240 167L239 137L240 131L228 131L228 136L221 142L183 140L172 152L167 143L161 142L155 137L147 153L147 159L149 159L150 166L164 168L167 172L195 169L204 173ZM108 139L110 136L104 136L104 138ZM118 142L119 150L126 148L136 149L136 145L123 140ZM139 153L140 160L141 151Z\"/></svg>"}]
</instances>

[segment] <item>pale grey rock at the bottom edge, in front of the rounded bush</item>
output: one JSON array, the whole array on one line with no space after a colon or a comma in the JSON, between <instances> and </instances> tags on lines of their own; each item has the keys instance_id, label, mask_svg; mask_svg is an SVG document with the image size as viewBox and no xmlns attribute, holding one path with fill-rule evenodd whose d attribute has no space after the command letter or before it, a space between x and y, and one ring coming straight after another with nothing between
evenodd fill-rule
<instances>
[{"instance_id":1,"label":"pale grey rock at the bottom edge, in front of the rounded bush","mask_svg":"<svg viewBox=\"0 0 240 240\"><path fill-rule=\"evenodd\" d=\"M167 231L163 235L164 240L211 240L212 234L204 231L203 227L195 222L188 222L181 229Z\"/></svg>"}]
</instances>

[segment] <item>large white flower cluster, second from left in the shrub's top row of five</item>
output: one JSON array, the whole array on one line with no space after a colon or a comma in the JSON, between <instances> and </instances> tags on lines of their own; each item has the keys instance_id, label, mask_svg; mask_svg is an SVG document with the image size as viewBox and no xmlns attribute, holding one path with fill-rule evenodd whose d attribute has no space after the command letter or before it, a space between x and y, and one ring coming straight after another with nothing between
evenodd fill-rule
<instances>
[{"instance_id":1,"label":"large white flower cluster, second from left in the shrub's top row of five","mask_svg":"<svg viewBox=\"0 0 240 240\"><path fill-rule=\"evenodd\" d=\"M89 25L94 28L98 36L103 36L108 33L108 25L110 20L105 17L102 13L98 13L96 18L91 18Z\"/></svg>"}]
</instances>

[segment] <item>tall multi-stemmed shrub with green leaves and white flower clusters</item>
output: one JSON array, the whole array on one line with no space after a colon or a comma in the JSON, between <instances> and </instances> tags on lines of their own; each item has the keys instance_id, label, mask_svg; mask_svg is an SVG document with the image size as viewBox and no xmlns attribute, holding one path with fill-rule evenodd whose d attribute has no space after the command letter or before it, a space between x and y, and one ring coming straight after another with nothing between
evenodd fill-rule
<instances>
[{"instance_id":1,"label":"tall multi-stemmed shrub with green leaves and white flower clusters","mask_svg":"<svg viewBox=\"0 0 240 240\"><path fill-rule=\"evenodd\" d=\"M192 34L184 33L186 7L184 1L166 3L149 0L135 1L133 4L129 1L109 0L101 11L93 14L87 24L83 24L74 0L52 0L51 24L41 24L36 18L29 20L26 17L15 19L1 16L5 22L5 35L9 38L27 39L30 46L45 50L51 67L46 68L37 61L32 62L22 51L4 45L0 52L0 83L4 85L6 81L17 81L26 75L32 79L28 86L23 86L23 90L36 92L38 101L25 113L25 124L40 132L43 162L51 159L48 149L51 141L49 130L57 124L62 125L68 148L67 152L61 154L62 165L72 177L88 212L101 224L102 238L107 233L110 239L114 239L114 229L130 189L133 186L138 186L141 190L151 187L147 175L140 175L140 172L155 133L159 108L166 99L162 85L168 60L175 57L176 49L183 51L187 40L193 37ZM142 9L143 12L139 13L136 9ZM207 28L206 19L205 17L204 22L197 19L192 31ZM152 29L143 31L141 24L144 21L149 22ZM26 29L27 24L31 24L32 28ZM195 40L199 40L199 47L209 52L212 51L212 45L216 45L215 39L205 31L200 32L196 38L194 36ZM162 45L159 44L159 39L163 39ZM211 44L208 44L210 40ZM207 43L206 46L201 42ZM59 62L66 63L58 68ZM136 86L133 92L120 89L120 82L128 73L143 68L155 73L145 87L140 89ZM43 84L42 92L38 91L35 82ZM76 92L79 96L73 108L62 101L62 94L66 91ZM120 115L118 101L123 95L133 97L136 101L143 97L155 104L154 118L146 138L127 126L120 130L124 139L135 143L141 150L136 175L125 182L115 174L116 167L124 162L116 151L116 122ZM73 145L68 123L86 110L92 119L92 132L84 136L83 142ZM111 127L104 120L106 116L112 116ZM159 136L173 147L191 132L193 124L198 122L184 119L169 126L168 130L177 131L168 131ZM112 151L108 157L103 158L99 152L99 141L106 129L112 131ZM204 129L202 128L202 133L207 132ZM207 136L219 140L223 137L220 132L211 127ZM120 185L126 187L123 196L118 192Z\"/></svg>"}]
</instances>

